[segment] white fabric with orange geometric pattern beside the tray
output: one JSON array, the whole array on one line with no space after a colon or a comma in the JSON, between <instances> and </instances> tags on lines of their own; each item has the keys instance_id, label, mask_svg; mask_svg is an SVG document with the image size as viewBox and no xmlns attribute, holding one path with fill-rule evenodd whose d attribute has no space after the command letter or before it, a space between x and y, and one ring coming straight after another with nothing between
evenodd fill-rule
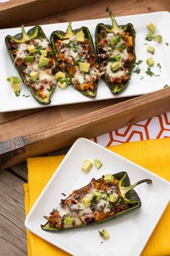
<instances>
[{"instance_id":1,"label":"white fabric with orange geometric pattern beside the tray","mask_svg":"<svg viewBox=\"0 0 170 256\"><path fill-rule=\"evenodd\" d=\"M165 137L170 137L170 112L160 116L154 116L151 119L140 121L128 127L117 129L99 137L94 137L93 140L107 147L125 142Z\"/></svg>"}]
</instances>

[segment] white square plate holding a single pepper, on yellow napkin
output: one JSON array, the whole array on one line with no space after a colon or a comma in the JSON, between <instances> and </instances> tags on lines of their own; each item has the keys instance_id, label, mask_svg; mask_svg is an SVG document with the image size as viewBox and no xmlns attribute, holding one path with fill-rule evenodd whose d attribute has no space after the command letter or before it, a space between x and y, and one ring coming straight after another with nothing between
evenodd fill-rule
<instances>
[{"instance_id":1,"label":"white square plate holding a single pepper, on yellow napkin","mask_svg":"<svg viewBox=\"0 0 170 256\"><path fill-rule=\"evenodd\" d=\"M103 163L102 168L97 170L93 167L89 174L85 174L81 171L81 164L85 158L91 161L95 158L100 159ZM127 171L131 184L140 179L152 179L153 184L141 184L135 188L142 202L139 210L99 225L55 234L40 228L40 225L46 222L43 216L48 216L50 211L56 208L64 198L61 195L62 192L68 196L74 189L89 184L93 177L98 179L103 174L115 174L119 171ZM26 218L25 226L32 233L71 255L137 256L142 252L164 212L169 202L169 192L170 184L166 180L90 140L80 138L68 151L58 171L53 174L50 182L38 197ZM103 244L101 244L102 239L98 232L102 229L107 229L110 234L110 238Z\"/></svg>"}]
</instances>

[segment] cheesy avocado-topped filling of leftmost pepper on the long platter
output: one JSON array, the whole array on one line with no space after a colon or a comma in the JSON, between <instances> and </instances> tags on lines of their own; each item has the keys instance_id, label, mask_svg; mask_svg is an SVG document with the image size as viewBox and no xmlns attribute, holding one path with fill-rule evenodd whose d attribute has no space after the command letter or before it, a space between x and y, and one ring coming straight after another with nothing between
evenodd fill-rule
<instances>
[{"instance_id":1,"label":"cheesy avocado-topped filling of leftmost pepper on the long platter","mask_svg":"<svg viewBox=\"0 0 170 256\"><path fill-rule=\"evenodd\" d=\"M15 43L11 39L9 46L15 64L22 71L24 83L33 88L41 98L46 98L48 92L57 85L55 73L59 71L58 67L55 67L48 39L37 38L23 43ZM42 59L45 59L46 63L40 65Z\"/></svg>"}]
</instances>

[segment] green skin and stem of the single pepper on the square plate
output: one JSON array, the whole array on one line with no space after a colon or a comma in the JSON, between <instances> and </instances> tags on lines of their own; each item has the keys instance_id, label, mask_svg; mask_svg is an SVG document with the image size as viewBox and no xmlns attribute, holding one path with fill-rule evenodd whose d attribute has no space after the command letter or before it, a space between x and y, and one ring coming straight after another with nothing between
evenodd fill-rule
<instances>
[{"instance_id":1,"label":"green skin and stem of the single pepper on the square plate","mask_svg":"<svg viewBox=\"0 0 170 256\"><path fill-rule=\"evenodd\" d=\"M133 187L135 187L138 184L141 184L143 182L147 182L148 184L151 184L152 183L151 179L143 179L140 182L136 182L135 184L130 185L129 176L125 171L121 171L117 174L112 174L112 176L114 176L115 179L120 180L119 187L120 187L120 191L122 190L121 191L122 197L124 198L125 202L128 202L128 204L132 205L132 207L129 208L128 210L122 211L121 213L117 213L114 216L105 218L102 221L92 222L92 223L84 224L84 225L77 226L77 227L71 227L68 229L77 229L77 228L81 228L84 226L91 226L91 225L96 225L98 223L103 223L104 221L109 221L113 218L125 216L126 214L132 213L133 211L135 211L141 207L140 197L138 197L138 194L135 192L135 190L133 190ZM97 182L99 182L100 180L101 179L97 179ZM87 187L87 186L85 186L85 187ZM82 187L81 189L84 189L85 187ZM79 189L79 190L81 191L81 189ZM66 229L57 229L55 227L50 227L49 222L45 223L45 225L41 225L41 228L42 228L42 230L50 231L50 232L59 232L59 231L66 230Z\"/></svg>"}]
</instances>

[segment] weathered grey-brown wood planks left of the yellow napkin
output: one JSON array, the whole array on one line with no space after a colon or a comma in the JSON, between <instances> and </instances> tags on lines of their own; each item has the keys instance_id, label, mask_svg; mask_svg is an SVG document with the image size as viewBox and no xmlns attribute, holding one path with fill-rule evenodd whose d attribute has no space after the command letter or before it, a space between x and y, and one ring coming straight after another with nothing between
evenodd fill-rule
<instances>
[{"instance_id":1,"label":"weathered grey-brown wood planks left of the yellow napkin","mask_svg":"<svg viewBox=\"0 0 170 256\"><path fill-rule=\"evenodd\" d=\"M24 229L23 181L9 171L0 172L0 255L27 255Z\"/></svg>"}]
</instances>

